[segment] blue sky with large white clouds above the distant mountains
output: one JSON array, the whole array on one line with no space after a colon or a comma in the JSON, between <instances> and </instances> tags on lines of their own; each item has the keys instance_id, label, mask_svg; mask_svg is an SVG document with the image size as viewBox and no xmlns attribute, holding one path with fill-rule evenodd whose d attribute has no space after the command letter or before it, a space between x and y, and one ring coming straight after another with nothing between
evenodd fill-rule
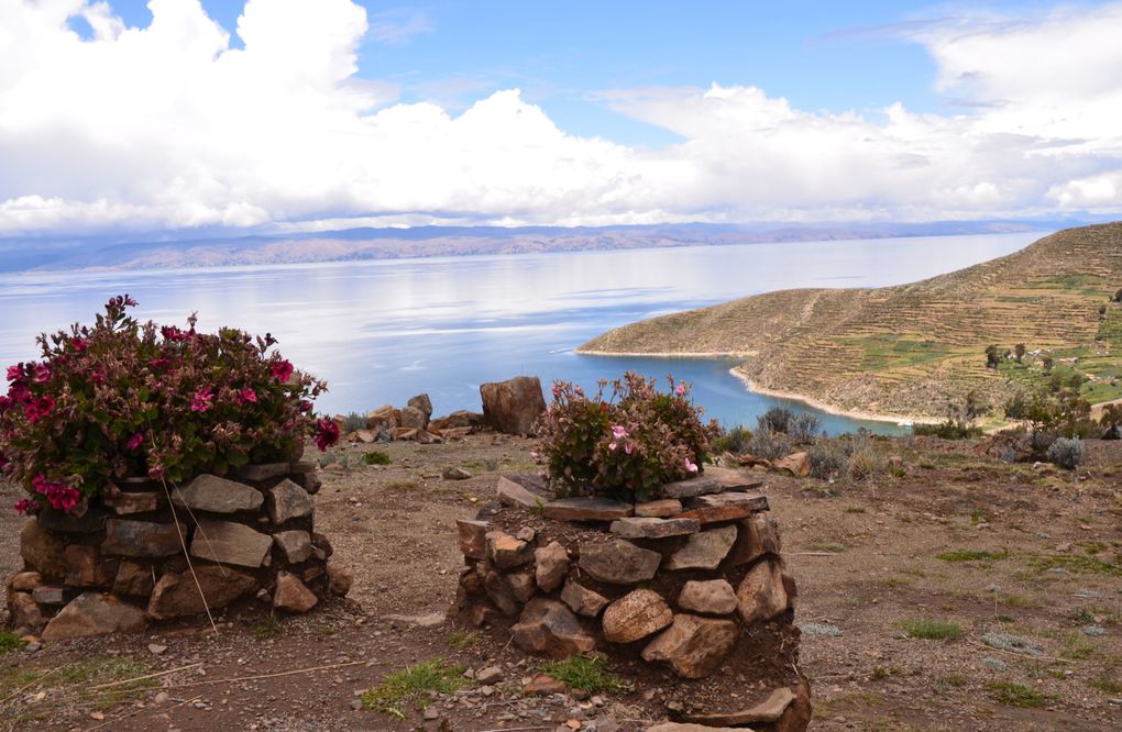
<instances>
[{"instance_id":1,"label":"blue sky with large white clouds above the distant mountains","mask_svg":"<svg viewBox=\"0 0 1122 732\"><path fill-rule=\"evenodd\" d=\"M0 0L0 238L1122 212L1122 2Z\"/></svg>"}]
</instances>

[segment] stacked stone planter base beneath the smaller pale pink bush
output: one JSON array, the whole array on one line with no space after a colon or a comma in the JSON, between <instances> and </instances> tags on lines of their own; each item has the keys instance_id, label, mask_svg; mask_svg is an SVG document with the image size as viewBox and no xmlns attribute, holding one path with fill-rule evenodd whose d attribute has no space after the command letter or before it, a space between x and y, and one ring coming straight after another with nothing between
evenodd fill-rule
<instances>
[{"instance_id":1,"label":"stacked stone planter base beneath the smaller pale pink bush","mask_svg":"<svg viewBox=\"0 0 1122 732\"><path fill-rule=\"evenodd\" d=\"M507 628L531 654L634 665L640 684L669 683L677 722L804 730L795 586L761 484L707 467L661 500L625 503L500 479L498 501L457 522L458 617Z\"/></svg>"}]
</instances>

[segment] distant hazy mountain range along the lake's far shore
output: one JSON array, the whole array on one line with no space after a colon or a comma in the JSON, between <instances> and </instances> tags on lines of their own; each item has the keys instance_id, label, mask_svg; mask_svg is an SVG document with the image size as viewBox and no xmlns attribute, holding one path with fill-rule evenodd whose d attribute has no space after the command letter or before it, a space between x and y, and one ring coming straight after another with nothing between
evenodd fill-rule
<instances>
[{"instance_id":1,"label":"distant hazy mountain range along the lake's far shore","mask_svg":"<svg viewBox=\"0 0 1122 732\"><path fill-rule=\"evenodd\" d=\"M0 239L0 272L172 269L291 265L415 257L706 247L778 241L885 239L1050 231L1070 221L975 221L922 224L655 224L622 226L416 226L128 239ZM196 233L195 237L199 234Z\"/></svg>"}]
</instances>

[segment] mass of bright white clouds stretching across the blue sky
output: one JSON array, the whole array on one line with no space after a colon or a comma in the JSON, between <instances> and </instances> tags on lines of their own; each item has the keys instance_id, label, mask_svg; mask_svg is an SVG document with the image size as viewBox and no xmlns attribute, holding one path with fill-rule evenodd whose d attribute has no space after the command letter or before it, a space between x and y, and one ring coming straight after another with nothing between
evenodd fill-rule
<instances>
[{"instance_id":1,"label":"mass of bright white clouds stretching across the blue sky","mask_svg":"<svg viewBox=\"0 0 1122 732\"><path fill-rule=\"evenodd\" d=\"M605 94L684 140L655 149L567 135L517 90L452 114L355 76L364 38L423 16L249 0L231 48L197 0L149 4L126 28L103 2L0 0L0 233L1122 212L1122 4L912 27L957 115L808 112L738 85Z\"/></svg>"}]
</instances>

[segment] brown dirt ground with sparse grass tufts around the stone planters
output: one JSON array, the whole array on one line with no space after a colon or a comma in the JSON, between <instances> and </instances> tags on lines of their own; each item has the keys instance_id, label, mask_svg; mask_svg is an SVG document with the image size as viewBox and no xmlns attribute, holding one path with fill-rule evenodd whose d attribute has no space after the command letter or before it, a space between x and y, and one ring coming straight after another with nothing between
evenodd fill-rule
<instances>
[{"instance_id":1,"label":"brown dirt ground with sparse grass tufts around the stone planters","mask_svg":"<svg viewBox=\"0 0 1122 732\"><path fill-rule=\"evenodd\" d=\"M365 465L360 453L375 447L393 464ZM1122 445L1093 444L1078 475L1004 464L968 442L883 447L903 457L903 474L835 484L765 475L799 584L811 730L1122 728ZM530 450L493 435L338 448L347 467L323 472L316 519L332 560L355 573L347 600L276 622L230 611L217 633L202 621L0 652L0 724L643 729L672 688L526 696L539 661L499 633L442 621L461 566L453 520L489 500L497 475L532 470ZM448 466L472 478L444 480ZM21 566L16 498L0 487L4 577ZM914 638L921 620L954 623L960 637ZM388 674L434 658L496 666L504 679L465 679L461 692L405 707L405 720L356 708ZM626 680L627 668L613 670ZM745 698L754 693L746 682Z\"/></svg>"}]
</instances>

